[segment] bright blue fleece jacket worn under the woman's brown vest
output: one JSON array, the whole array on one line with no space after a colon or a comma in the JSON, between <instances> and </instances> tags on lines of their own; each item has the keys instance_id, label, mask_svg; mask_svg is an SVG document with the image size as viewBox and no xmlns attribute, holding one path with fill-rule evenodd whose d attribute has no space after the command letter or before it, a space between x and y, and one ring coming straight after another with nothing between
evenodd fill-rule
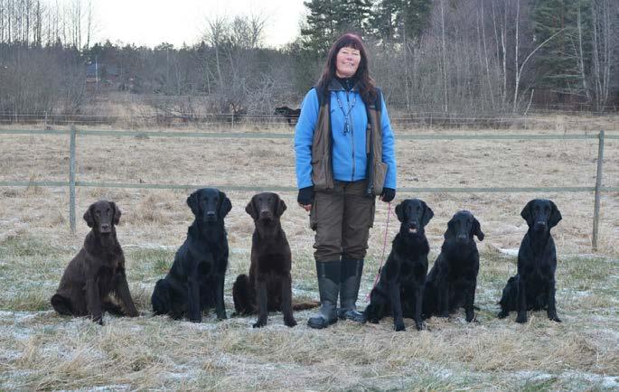
<instances>
[{"instance_id":1,"label":"bright blue fleece jacket worn under the woman's brown vest","mask_svg":"<svg viewBox=\"0 0 619 392\"><path fill-rule=\"evenodd\" d=\"M331 91L331 128L333 140L333 178L337 181L359 181L366 177L367 154L365 134L368 115L358 91ZM338 99L342 103L342 108ZM387 163L385 188L396 189L396 154L393 130L384 99L380 121L382 126L382 162ZM344 133L344 114L349 108L352 132ZM316 89L310 89L301 104L301 116L295 129L296 185L312 186L312 139L320 109ZM343 110L342 110L343 109Z\"/></svg>"}]
</instances>

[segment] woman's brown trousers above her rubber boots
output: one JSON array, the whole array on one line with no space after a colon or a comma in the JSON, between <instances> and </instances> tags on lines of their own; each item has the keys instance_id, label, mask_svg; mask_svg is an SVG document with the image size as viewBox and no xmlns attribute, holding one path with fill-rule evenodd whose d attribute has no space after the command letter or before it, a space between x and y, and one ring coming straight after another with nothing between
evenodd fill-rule
<instances>
[{"instance_id":1,"label":"woman's brown trousers above her rubber boots","mask_svg":"<svg viewBox=\"0 0 619 392\"><path fill-rule=\"evenodd\" d=\"M375 197L365 194L366 187L366 180L336 181L333 190L314 193L310 227L316 232L316 261L365 257L376 210Z\"/></svg>"}]
</instances>

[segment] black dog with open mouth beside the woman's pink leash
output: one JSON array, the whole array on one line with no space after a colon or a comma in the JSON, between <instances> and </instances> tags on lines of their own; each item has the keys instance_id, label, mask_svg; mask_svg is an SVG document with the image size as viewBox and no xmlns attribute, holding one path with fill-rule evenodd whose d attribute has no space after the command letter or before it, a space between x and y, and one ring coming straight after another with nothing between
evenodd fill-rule
<instances>
[{"instance_id":1,"label":"black dog with open mouth beside the woman's pink leash","mask_svg":"<svg viewBox=\"0 0 619 392\"><path fill-rule=\"evenodd\" d=\"M383 316L392 313L396 331L404 331L403 317L415 320L417 330L421 330L427 253L430 251L424 228L434 212L424 201L411 199L396 207L396 215L401 222L399 233L393 239L385 266L380 270L380 281L370 293L365 316L369 322L379 322Z\"/></svg>"}]
</instances>

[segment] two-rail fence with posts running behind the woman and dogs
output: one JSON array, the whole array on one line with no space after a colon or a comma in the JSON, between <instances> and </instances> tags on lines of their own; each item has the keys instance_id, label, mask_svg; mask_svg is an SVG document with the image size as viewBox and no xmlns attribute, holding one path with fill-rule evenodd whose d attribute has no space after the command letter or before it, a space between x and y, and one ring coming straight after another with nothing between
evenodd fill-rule
<instances>
[{"instance_id":1,"label":"two-rail fence with posts running behind the woman and dogs","mask_svg":"<svg viewBox=\"0 0 619 392\"><path fill-rule=\"evenodd\" d=\"M5 135L70 135L70 170L68 182L41 181L2 181L0 186L42 186L42 187L65 187L70 190L70 230L75 233L75 188L76 187L98 187L98 188L131 188L131 189L176 189L190 190L202 188L204 185L196 184L162 184L162 183L125 183L125 182L80 182L76 180L75 155L76 155L76 136L77 135L98 135L98 136L133 136L133 137L204 137L204 138L286 138L294 137L291 133L221 133L221 132L136 132L136 131L95 131L78 130L72 127L70 130L2 130L0 134ZM591 187L572 186L572 187L483 187L483 188L464 188L464 187L434 187L434 188L398 188L399 192L405 193L520 193L520 192L595 192L594 202L594 221L592 247L597 250L597 235L599 230L599 209L600 194L604 191L619 191L619 187L603 187L602 173L604 164L604 143L605 139L619 139L619 135L605 135L602 130L597 134L564 134L564 135L397 135L399 139L408 140L586 140L598 139L597 149L597 172L596 185ZM211 184L210 186L214 186ZM295 187L286 186L241 186L241 185L220 185L217 186L223 191L296 191Z\"/></svg>"}]
</instances>

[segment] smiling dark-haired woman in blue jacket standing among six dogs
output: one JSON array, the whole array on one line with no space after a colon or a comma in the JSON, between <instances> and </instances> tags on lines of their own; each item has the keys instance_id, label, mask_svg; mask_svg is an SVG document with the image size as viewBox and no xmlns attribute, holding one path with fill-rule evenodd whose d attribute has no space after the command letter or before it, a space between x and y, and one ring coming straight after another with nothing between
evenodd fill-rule
<instances>
[{"instance_id":1,"label":"smiling dark-haired woman in blue jacket standing among six dogs","mask_svg":"<svg viewBox=\"0 0 619 392\"><path fill-rule=\"evenodd\" d=\"M295 130L297 201L310 211L321 308L307 324L338 316L365 322L355 303L375 210L375 196L396 195L393 131L361 39L344 34L323 75L305 96ZM336 310L340 294L339 310Z\"/></svg>"}]
</instances>

